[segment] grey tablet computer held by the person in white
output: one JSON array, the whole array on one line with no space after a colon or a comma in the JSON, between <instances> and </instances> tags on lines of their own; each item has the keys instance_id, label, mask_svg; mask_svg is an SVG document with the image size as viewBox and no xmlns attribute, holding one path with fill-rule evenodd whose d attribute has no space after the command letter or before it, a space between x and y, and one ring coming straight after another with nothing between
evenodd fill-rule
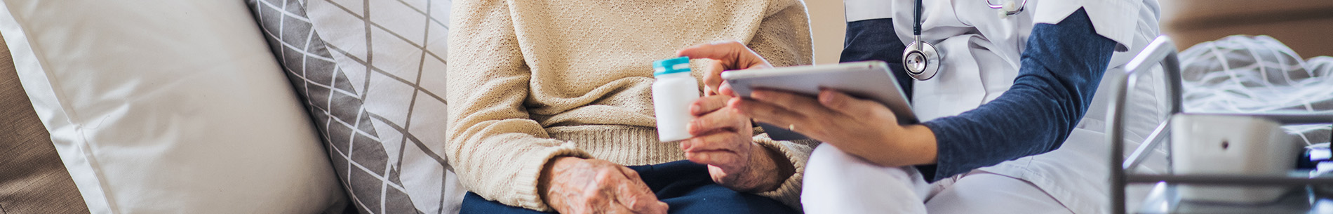
<instances>
[{"instance_id":1,"label":"grey tablet computer held by the person in white","mask_svg":"<svg viewBox=\"0 0 1333 214\"><path fill-rule=\"evenodd\" d=\"M852 97L873 100L898 118L898 124L917 124L908 97L898 88L897 78L889 73L884 61L860 61L834 65L784 66L773 69L746 69L722 72L722 80L741 97L749 97L753 89L785 90L804 96L818 96L820 89L836 89ZM764 132L773 140L790 141L808 137L786 129L786 124L762 124Z\"/></svg>"}]
</instances>

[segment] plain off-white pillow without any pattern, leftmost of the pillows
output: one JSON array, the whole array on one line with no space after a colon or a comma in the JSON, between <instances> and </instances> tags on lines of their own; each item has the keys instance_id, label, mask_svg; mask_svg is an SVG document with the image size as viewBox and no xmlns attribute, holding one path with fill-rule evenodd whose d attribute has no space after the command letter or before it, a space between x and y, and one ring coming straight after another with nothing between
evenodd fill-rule
<instances>
[{"instance_id":1,"label":"plain off-white pillow without any pattern, leftmost of the pillows","mask_svg":"<svg viewBox=\"0 0 1333 214\"><path fill-rule=\"evenodd\" d=\"M244 1L4 0L0 33L89 211L345 207Z\"/></svg>"}]
</instances>

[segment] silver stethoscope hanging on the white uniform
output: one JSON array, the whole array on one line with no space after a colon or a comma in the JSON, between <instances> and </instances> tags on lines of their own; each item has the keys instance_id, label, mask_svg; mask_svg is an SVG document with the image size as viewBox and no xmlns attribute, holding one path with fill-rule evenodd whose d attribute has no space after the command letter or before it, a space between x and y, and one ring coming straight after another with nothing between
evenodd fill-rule
<instances>
[{"instance_id":1,"label":"silver stethoscope hanging on the white uniform","mask_svg":"<svg viewBox=\"0 0 1333 214\"><path fill-rule=\"evenodd\" d=\"M1022 8L1028 5L1028 0L1022 0L1021 4L1014 4L1014 0L1006 1L1005 4L994 4L986 0L986 5L992 9L1001 9L1000 17L1013 16L1022 12ZM930 43L921 41L921 0L916 0L916 11L912 12L912 44L902 51L902 66L908 70L908 74L916 80L930 80L936 73L940 72L940 52L934 49Z\"/></svg>"}]
</instances>

